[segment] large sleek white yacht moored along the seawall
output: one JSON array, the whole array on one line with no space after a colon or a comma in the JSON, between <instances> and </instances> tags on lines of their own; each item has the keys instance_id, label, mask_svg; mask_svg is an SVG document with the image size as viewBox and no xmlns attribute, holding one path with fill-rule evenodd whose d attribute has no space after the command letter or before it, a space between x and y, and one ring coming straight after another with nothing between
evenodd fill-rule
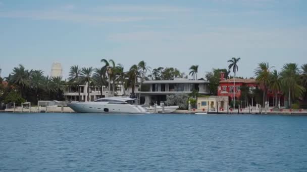
<instances>
[{"instance_id":1,"label":"large sleek white yacht moored along the seawall","mask_svg":"<svg viewBox=\"0 0 307 172\"><path fill-rule=\"evenodd\" d=\"M93 102L69 103L71 109L77 113L124 113L145 114L148 111L142 106L136 105L137 100L127 97L108 97L97 99Z\"/></svg>"}]
</instances>

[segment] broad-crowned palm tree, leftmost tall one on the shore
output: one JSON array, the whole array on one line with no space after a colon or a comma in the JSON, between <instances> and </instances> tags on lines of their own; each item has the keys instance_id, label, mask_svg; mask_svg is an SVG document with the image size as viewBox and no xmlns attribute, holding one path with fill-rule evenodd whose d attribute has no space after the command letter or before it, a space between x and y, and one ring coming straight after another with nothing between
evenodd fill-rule
<instances>
[{"instance_id":1,"label":"broad-crowned palm tree, leftmost tall one on the shore","mask_svg":"<svg viewBox=\"0 0 307 172\"><path fill-rule=\"evenodd\" d=\"M14 67L13 72L9 76L9 82L19 87L21 97L25 96L25 89L30 85L31 72L32 70L26 70L25 67L20 64L18 67Z\"/></svg>"}]
</instances>

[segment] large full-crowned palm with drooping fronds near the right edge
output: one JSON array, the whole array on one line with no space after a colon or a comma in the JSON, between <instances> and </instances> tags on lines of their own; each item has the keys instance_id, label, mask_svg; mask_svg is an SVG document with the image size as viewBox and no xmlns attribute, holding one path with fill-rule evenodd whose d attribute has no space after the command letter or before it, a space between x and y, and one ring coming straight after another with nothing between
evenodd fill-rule
<instances>
[{"instance_id":1,"label":"large full-crowned palm with drooping fronds near the right edge","mask_svg":"<svg viewBox=\"0 0 307 172\"><path fill-rule=\"evenodd\" d=\"M281 83L284 86L285 93L288 92L288 105L291 107L291 98L301 97L305 89L298 84L299 69L295 63L287 63L281 70Z\"/></svg>"}]
</instances>

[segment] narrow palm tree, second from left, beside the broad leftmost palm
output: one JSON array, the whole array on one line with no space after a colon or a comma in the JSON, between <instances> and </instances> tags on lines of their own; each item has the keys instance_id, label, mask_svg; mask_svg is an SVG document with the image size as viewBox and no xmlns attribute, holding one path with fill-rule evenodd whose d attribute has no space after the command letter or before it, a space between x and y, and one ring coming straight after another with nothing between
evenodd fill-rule
<instances>
[{"instance_id":1,"label":"narrow palm tree, second from left, beside the broad leftmost palm","mask_svg":"<svg viewBox=\"0 0 307 172\"><path fill-rule=\"evenodd\" d=\"M35 91L35 102L38 101L40 95L39 91L43 87L43 71L42 70L34 70L31 72L31 88Z\"/></svg>"}]
</instances>

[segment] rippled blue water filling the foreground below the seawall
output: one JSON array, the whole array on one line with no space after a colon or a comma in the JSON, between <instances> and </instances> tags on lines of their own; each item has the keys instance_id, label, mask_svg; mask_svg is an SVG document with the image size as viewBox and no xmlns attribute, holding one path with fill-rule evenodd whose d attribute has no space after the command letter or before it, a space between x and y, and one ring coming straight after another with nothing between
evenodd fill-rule
<instances>
[{"instance_id":1,"label":"rippled blue water filling the foreground below the seawall","mask_svg":"<svg viewBox=\"0 0 307 172\"><path fill-rule=\"evenodd\" d=\"M0 171L307 171L307 117L0 113Z\"/></svg>"}]
</instances>

